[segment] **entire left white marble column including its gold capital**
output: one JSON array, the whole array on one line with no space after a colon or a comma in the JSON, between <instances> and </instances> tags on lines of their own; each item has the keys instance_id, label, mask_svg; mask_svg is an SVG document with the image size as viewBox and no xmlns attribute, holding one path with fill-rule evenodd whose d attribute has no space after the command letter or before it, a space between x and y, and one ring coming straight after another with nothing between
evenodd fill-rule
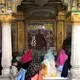
<instances>
[{"instance_id":1,"label":"entire left white marble column including its gold capital","mask_svg":"<svg viewBox=\"0 0 80 80\"><path fill-rule=\"evenodd\" d=\"M12 60L11 15L1 15L2 21L2 76L9 77Z\"/></svg>"}]
</instances>

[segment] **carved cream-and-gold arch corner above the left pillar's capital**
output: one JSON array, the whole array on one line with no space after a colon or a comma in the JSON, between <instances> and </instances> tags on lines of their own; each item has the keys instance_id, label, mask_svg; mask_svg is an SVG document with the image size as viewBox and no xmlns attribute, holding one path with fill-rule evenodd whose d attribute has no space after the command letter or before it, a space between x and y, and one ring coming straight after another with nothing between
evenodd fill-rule
<instances>
[{"instance_id":1,"label":"carved cream-and-gold arch corner above the left pillar's capital","mask_svg":"<svg viewBox=\"0 0 80 80\"><path fill-rule=\"evenodd\" d=\"M17 12L17 6L23 0L2 0L0 1L0 14L11 14Z\"/></svg>"}]
</instances>

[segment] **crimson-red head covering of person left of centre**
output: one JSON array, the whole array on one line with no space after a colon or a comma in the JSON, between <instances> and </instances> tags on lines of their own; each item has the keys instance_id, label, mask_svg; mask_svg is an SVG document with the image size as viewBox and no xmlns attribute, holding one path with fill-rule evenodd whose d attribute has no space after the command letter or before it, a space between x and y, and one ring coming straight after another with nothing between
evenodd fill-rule
<instances>
[{"instance_id":1,"label":"crimson-red head covering of person left of centre","mask_svg":"<svg viewBox=\"0 0 80 80\"><path fill-rule=\"evenodd\" d=\"M21 57L21 64L25 64L25 63L27 63L27 62L29 62L31 60L32 60L32 51L29 50L29 51L26 52L25 55L23 55Z\"/></svg>"}]
</instances>

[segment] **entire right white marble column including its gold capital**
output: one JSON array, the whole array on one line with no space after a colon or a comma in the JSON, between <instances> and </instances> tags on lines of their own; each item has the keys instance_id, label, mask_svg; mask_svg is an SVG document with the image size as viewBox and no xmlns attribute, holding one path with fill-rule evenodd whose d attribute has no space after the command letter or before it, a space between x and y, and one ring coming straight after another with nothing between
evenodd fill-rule
<instances>
[{"instance_id":1,"label":"entire right white marble column including its gold capital","mask_svg":"<svg viewBox=\"0 0 80 80\"><path fill-rule=\"evenodd\" d=\"M72 50L70 80L80 80L80 12L74 11L72 19Z\"/></svg>"}]
</instances>

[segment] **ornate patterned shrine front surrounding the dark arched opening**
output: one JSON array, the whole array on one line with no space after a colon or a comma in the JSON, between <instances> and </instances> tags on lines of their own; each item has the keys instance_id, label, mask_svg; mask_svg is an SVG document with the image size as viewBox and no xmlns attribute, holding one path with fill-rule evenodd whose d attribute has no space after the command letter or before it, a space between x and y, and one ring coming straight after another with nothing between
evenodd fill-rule
<instances>
[{"instance_id":1,"label":"ornate patterned shrine front surrounding the dark arched opening","mask_svg":"<svg viewBox=\"0 0 80 80\"><path fill-rule=\"evenodd\" d=\"M40 50L37 50L36 35L39 33L39 30L46 40L46 48L42 47ZM53 47L56 50L56 26L54 23L28 24L28 47L33 49L33 55L36 59L44 56L49 47Z\"/></svg>"}]
</instances>

